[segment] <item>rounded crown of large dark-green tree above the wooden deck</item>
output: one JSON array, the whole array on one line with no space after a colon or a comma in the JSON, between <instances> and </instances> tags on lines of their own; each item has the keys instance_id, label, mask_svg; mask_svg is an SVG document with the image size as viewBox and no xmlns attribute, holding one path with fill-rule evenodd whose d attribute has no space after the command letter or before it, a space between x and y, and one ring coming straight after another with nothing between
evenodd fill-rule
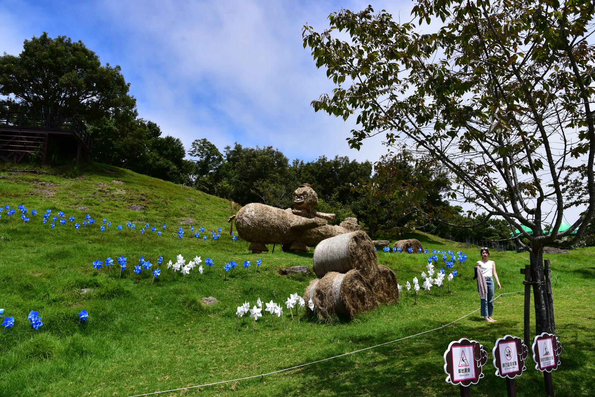
<instances>
[{"instance_id":1,"label":"rounded crown of large dark-green tree above the wooden deck","mask_svg":"<svg viewBox=\"0 0 595 397\"><path fill-rule=\"evenodd\" d=\"M120 66L102 65L80 40L52 39L46 32L25 40L18 56L0 57L0 95L7 97L6 105L88 121L134 113L136 105Z\"/></svg>"}]
</instances>

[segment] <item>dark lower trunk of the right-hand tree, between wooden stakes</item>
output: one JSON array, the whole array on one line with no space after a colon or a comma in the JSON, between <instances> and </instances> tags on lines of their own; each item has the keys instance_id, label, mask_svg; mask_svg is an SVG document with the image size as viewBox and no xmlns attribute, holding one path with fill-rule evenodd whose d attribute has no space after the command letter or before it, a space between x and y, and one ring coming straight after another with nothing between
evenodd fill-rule
<instances>
[{"instance_id":1,"label":"dark lower trunk of the right-hand tree, between wooden stakes","mask_svg":"<svg viewBox=\"0 0 595 397\"><path fill-rule=\"evenodd\" d=\"M531 258L531 280L533 284L533 302L535 305L535 330L536 335L542 332L552 332L552 320L550 311L547 310L547 290L543 273L543 247L533 246L530 249ZM525 343L532 343L526 340Z\"/></svg>"}]
</instances>

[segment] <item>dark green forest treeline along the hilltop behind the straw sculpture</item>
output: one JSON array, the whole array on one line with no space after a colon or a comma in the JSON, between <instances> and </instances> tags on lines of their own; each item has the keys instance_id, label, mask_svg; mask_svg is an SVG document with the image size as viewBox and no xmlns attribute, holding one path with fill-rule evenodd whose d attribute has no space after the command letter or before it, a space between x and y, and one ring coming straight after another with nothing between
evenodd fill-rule
<instances>
[{"instance_id":1,"label":"dark green forest treeline along the hilltop behind the straw sculpture","mask_svg":"<svg viewBox=\"0 0 595 397\"><path fill-rule=\"evenodd\" d=\"M436 212L447 214L452 223L473 224L484 215L470 217L450 206L443 197L449 176L408 158L383 158L375 164L339 156L290 161L273 146L234 143L220 151L205 138L184 148L179 138L164 136L156 123L139 117L129 89L118 65L102 65L83 42L67 36L43 33L24 40L19 55L0 57L0 107L83 118L97 162L192 186L241 205L261 202L287 208L293 190L310 183L320 199L318 211L335 213L335 223L356 217L374 238L400 236L415 227L459 239L503 239L510 232L502 220L457 229L429 216Z\"/></svg>"}]
</instances>

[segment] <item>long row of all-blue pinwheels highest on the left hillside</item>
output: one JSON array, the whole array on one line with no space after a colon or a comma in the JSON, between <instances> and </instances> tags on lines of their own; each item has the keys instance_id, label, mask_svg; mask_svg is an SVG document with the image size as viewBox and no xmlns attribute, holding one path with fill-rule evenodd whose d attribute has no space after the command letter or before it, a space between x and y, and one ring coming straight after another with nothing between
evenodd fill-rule
<instances>
[{"instance_id":1,"label":"long row of all-blue pinwheels highest on the left hillside","mask_svg":"<svg viewBox=\"0 0 595 397\"><path fill-rule=\"evenodd\" d=\"M14 208L10 208L10 205L5 205L4 207L0 207L0 212L4 212L4 210L6 210L7 215L10 217L11 215L15 214L15 210ZM29 212L29 210L27 210L27 208L25 208L22 204L18 205L18 210L21 211L21 219L24 221L24 223L29 223L30 218L26 215L27 212ZM50 210L48 208L48 210L46 210L45 212L43 212L43 223L47 224L48 222L51 222L49 224L50 229L54 229L55 226L57 226L57 223L64 226L65 224L68 223L68 221L75 222L74 223L74 229L80 229L80 227L86 227L86 226L90 226L92 224L95 224L95 219L91 217L91 215L87 214L84 216L84 219L82 220L82 224L79 222L76 222L76 218L73 215L70 215L69 217L66 217L66 215L64 214L64 211L58 211L58 215L51 215L52 210ZM37 210L32 210L29 212L30 215L36 215L37 214ZM0 213L0 218L2 217L2 214ZM109 221L107 218L104 218L103 220L103 224L101 224L101 226L99 227L99 229L102 232L105 232L105 230L108 230L109 227L112 226L111 221ZM130 230L134 230L136 229L136 224L132 223L131 221L127 221L126 226L129 227ZM161 236L161 230L165 229L166 225L162 224L162 225L158 225L158 226L152 226L149 223L146 223L144 226L141 226L140 228L140 234L145 234L145 232L147 230L151 230L151 232L156 232L156 234L158 236ZM118 224L118 226L116 227L117 230L123 230L124 227L121 224ZM195 227L194 226L190 226L190 233L193 233L193 236L196 238L201 237L201 233L205 233L205 228L204 227L200 227L198 228L198 231L195 232ZM183 228L180 226L178 229L178 237L181 239L184 236L184 230ZM234 241L237 240L237 236L234 236L234 233L231 233L232 239ZM211 239L213 240L218 240L221 238L221 227L217 229L217 233L215 233L215 230L211 230ZM207 237L206 237L206 233L202 236L202 240L206 241Z\"/></svg>"}]
</instances>

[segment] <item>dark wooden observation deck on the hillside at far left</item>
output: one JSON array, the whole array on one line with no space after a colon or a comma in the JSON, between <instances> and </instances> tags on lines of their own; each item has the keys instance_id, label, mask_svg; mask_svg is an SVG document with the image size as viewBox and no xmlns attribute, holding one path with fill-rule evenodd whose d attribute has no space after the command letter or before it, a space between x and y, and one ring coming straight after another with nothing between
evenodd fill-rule
<instances>
[{"instance_id":1,"label":"dark wooden observation deck on the hillside at far left","mask_svg":"<svg viewBox=\"0 0 595 397\"><path fill-rule=\"evenodd\" d=\"M76 116L0 111L0 159L17 163L27 153L40 152L41 165L48 161L48 146L76 158L89 158L93 140Z\"/></svg>"}]
</instances>

